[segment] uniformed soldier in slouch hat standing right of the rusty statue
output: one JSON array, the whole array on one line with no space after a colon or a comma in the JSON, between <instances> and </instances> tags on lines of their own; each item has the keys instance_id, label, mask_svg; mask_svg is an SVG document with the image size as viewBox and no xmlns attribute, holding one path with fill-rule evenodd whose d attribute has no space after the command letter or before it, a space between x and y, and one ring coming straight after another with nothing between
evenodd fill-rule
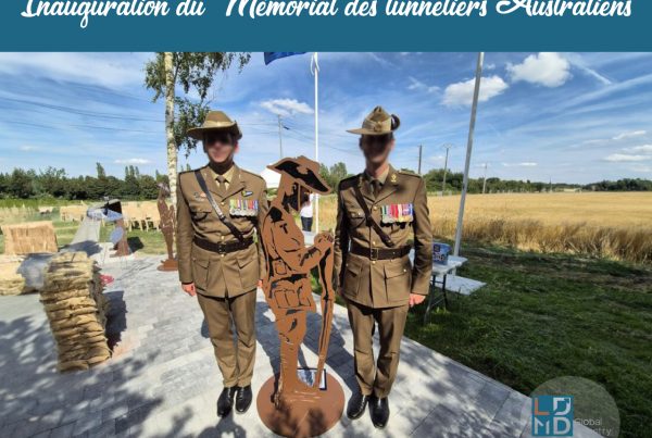
<instances>
[{"instance_id":1,"label":"uniformed soldier in slouch hat standing right of the rusty statue","mask_svg":"<svg viewBox=\"0 0 652 438\"><path fill-rule=\"evenodd\" d=\"M425 183L389 164L399 124L398 116L376 107L362 128L349 130L362 136L366 167L339 185L335 236L335 275L339 293L347 300L360 386L347 414L359 418L368 403L379 428L389 418L388 396L399 366L408 310L425 300L432 270ZM414 265L408 255L409 239L414 239ZM376 363L372 350L375 324L380 338Z\"/></svg>"}]
</instances>

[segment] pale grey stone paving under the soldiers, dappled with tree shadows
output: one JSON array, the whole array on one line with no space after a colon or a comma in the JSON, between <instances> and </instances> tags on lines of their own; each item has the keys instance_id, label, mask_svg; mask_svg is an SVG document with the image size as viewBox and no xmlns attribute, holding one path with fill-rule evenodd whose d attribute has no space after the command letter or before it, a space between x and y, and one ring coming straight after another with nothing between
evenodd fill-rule
<instances>
[{"instance_id":1,"label":"pale grey stone paving under the soldiers, dappled with tree shadows","mask_svg":"<svg viewBox=\"0 0 652 438\"><path fill-rule=\"evenodd\" d=\"M0 437L265 437L255 401L242 415L215 415L221 378L196 299L160 258L106 265L105 295L114 356L87 372L59 374L52 336L38 296L0 298ZM319 318L309 318L302 361L316 363ZM273 316L259 291L254 395L278 363ZM376 349L377 351L377 349ZM327 361L347 399L355 387L352 336L336 305ZM390 398L391 418L376 430L368 415L346 415L331 437L529 436L530 400L409 339ZM579 434L578 434L579 433ZM578 428L576 436L591 436Z\"/></svg>"}]
</instances>

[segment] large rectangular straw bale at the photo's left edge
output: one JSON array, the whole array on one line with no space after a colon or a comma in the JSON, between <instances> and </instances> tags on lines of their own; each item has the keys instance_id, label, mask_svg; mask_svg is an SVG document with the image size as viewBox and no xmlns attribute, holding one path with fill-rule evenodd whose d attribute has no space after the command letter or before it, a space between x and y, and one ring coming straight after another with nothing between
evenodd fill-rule
<instances>
[{"instance_id":1,"label":"large rectangular straw bale at the photo's left edge","mask_svg":"<svg viewBox=\"0 0 652 438\"><path fill-rule=\"evenodd\" d=\"M25 255L35 252L57 252L57 235L50 221L2 225L4 253Z\"/></svg>"}]
</instances>

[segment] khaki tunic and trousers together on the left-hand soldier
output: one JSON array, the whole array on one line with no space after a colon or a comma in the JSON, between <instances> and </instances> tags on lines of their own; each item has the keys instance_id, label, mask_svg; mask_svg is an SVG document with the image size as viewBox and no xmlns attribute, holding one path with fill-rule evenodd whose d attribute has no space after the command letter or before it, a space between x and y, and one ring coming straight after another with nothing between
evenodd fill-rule
<instances>
[{"instance_id":1,"label":"khaki tunic and trousers together on the left-hand soldier","mask_svg":"<svg viewBox=\"0 0 652 438\"><path fill-rule=\"evenodd\" d=\"M267 213L266 186L260 176L234 165L225 192L209 166L201 168L206 186L222 212L244 237L260 233ZM230 201L258 200L253 215L230 214ZM236 213L236 212L234 212ZM255 363L255 287L264 277L260 245L218 254L193 243L199 237L213 243L238 241L213 211L193 172L179 174L177 185L177 259L181 283L195 283L224 387L248 386ZM260 236L260 234L259 234ZM233 326L237 333L234 343Z\"/></svg>"}]
</instances>

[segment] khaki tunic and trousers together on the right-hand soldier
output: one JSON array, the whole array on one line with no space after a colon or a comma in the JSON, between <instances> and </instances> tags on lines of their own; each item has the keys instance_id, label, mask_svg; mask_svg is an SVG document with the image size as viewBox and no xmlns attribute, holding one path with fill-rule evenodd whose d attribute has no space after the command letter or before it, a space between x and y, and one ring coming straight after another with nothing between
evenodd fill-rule
<instances>
[{"instance_id":1,"label":"khaki tunic and trousers together on the right-hand soldier","mask_svg":"<svg viewBox=\"0 0 652 438\"><path fill-rule=\"evenodd\" d=\"M417 175L397 172L391 166L387 176L379 180L383 187L377 196L366 174L340 183L335 271L339 291L347 299L358 385L363 395L374 393L384 398L391 391L397 376L410 293L428 293L432 270L432 234L424 180ZM366 223L353 190L355 185L360 185L372 216L391 237L393 248L414 240L414 265L408 255L371 260L349 252L352 242L364 248L389 248ZM384 223L383 207L391 204L412 204L412 220ZM372 342L375 325L378 326L380 341L377 360L374 360Z\"/></svg>"}]
</instances>

